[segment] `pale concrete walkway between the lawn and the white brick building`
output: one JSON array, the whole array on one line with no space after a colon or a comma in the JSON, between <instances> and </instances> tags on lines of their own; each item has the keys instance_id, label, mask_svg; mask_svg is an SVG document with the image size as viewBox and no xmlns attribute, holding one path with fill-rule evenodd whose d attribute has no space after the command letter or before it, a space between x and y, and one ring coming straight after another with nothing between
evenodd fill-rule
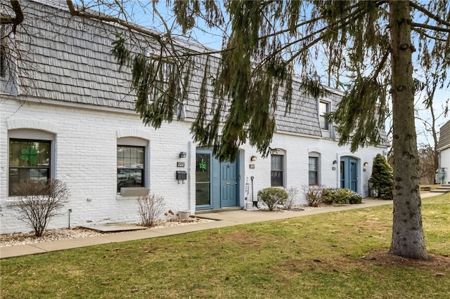
<instances>
[{"instance_id":1,"label":"pale concrete walkway between the lawn and the white brick building","mask_svg":"<svg viewBox=\"0 0 450 299\"><path fill-rule=\"evenodd\" d=\"M422 198L432 197L439 194L422 194ZM213 213L202 213L197 215L201 218L214 219L218 221L203 222L194 225L181 225L178 227L165 227L155 230L139 230L133 232L124 232L120 234L103 234L96 237L82 237L77 239L67 239L59 241L48 241L35 244L26 244L18 246L0 247L0 258L12 258L20 255L30 255L37 253L46 253L50 251L60 251L65 249L79 248L84 246L94 246L115 242L131 241L138 239L148 239L155 237L166 237L174 234L185 234L187 232L197 232L200 230L210 230L219 227L228 227L232 225L248 224L252 222L262 222L269 220L279 220L295 218L305 215L314 215L319 213L330 213L337 211L351 210L355 208L369 208L372 206L392 205L390 200L363 199L362 204L352 206L335 206L327 208L314 208L305 211L223 211Z\"/></svg>"}]
</instances>

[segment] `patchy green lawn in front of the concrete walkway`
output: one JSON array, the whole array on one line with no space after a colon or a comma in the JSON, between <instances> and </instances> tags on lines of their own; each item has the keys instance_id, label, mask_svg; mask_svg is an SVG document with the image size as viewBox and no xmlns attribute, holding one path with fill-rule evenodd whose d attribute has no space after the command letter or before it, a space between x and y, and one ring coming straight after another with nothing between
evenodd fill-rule
<instances>
[{"instance_id":1,"label":"patchy green lawn in front of the concrete walkway","mask_svg":"<svg viewBox=\"0 0 450 299\"><path fill-rule=\"evenodd\" d=\"M450 198L423 200L430 260L387 254L390 206L1 260L1 298L448 298Z\"/></svg>"}]
</instances>

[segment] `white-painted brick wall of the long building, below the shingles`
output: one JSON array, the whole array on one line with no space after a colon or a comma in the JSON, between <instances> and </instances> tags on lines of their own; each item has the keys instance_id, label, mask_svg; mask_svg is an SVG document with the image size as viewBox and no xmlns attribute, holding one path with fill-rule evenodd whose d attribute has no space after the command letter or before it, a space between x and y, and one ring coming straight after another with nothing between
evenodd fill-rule
<instances>
[{"instance_id":1,"label":"white-painted brick wall of the long building, below the shingles","mask_svg":"<svg viewBox=\"0 0 450 299\"><path fill-rule=\"evenodd\" d=\"M137 136L148 135L150 150L150 178L147 185L150 192L165 199L166 211L190 210L195 213L195 144L190 134L191 124L173 121L155 130L143 126L138 115L117 112L102 112L91 109L59 107L44 103L19 106L13 100L0 101L0 234L29 231L11 208L11 198L7 194L8 173L8 126L30 126L53 130L56 133L56 152L53 153L55 178L67 183L71 193L70 204L62 215L51 220L49 229L68 227L69 208L72 227L87 223L139 222L136 199L122 198L116 193L116 150L117 135L135 132ZM119 133L118 133L119 132ZM139 133L141 132L141 133ZM140 134L140 135L139 135ZM124 137L120 135L121 137ZM131 137L131 136L130 136ZM332 171L333 160L351 154L338 147L337 142L294 135L275 134L272 147L285 150L285 187L301 187L308 184L308 153L311 149L321 153L321 183L327 187L338 187L338 168ZM188 157L179 158L179 152L188 152ZM372 159L380 148L369 147L359 152L361 164L367 161L371 169ZM257 161L250 162L256 155ZM352 154L353 155L353 154ZM176 162L185 163L185 168L177 168ZM254 169L249 164L255 164ZM188 173L185 184L176 181L177 170ZM250 193L245 194L245 182L254 176L253 197L257 192L271 185L270 157L264 159L256 150L244 145L240 152L240 206ZM361 188L370 172L362 173ZM367 194L364 194L365 196ZM88 200L89 199L89 200ZM300 192L297 204L304 204Z\"/></svg>"}]
</instances>

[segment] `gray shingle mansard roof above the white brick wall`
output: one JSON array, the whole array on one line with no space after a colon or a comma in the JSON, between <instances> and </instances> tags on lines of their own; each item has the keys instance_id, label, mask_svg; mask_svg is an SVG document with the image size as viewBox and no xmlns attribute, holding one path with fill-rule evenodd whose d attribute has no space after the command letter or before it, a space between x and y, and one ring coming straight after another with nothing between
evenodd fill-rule
<instances>
[{"instance_id":1,"label":"gray shingle mansard roof above the white brick wall","mask_svg":"<svg viewBox=\"0 0 450 299\"><path fill-rule=\"evenodd\" d=\"M24 58L19 62L22 95L133 110L130 74L126 69L119 72L110 54L117 27L72 18L64 1L47 3L51 6L35 1L23 6L25 20L15 37ZM194 74L189 86L185 105L188 119L198 113L201 79L200 73ZM211 94L212 87L209 89ZM331 90L328 100L332 108L341 96ZM289 113L285 113L285 103L278 101L276 131L321 137L317 100L300 91L297 82Z\"/></svg>"}]
</instances>

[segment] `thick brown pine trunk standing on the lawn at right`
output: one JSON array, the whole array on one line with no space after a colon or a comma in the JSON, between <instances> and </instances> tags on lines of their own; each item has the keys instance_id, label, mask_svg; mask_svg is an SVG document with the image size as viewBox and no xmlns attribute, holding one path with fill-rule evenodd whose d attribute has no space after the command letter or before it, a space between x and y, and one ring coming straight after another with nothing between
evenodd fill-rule
<instances>
[{"instance_id":1,"label":"thick brown pine trunk standing on the lawn at right","mask_svg":"<svg viewBox=\"0 0 450 299\"><path fill-rule=\"evenodd\" d=\"M426 259L414 124L414 85L409 1L390 1L394 215L390 251Z\"/></svg>"}]
</instances>

